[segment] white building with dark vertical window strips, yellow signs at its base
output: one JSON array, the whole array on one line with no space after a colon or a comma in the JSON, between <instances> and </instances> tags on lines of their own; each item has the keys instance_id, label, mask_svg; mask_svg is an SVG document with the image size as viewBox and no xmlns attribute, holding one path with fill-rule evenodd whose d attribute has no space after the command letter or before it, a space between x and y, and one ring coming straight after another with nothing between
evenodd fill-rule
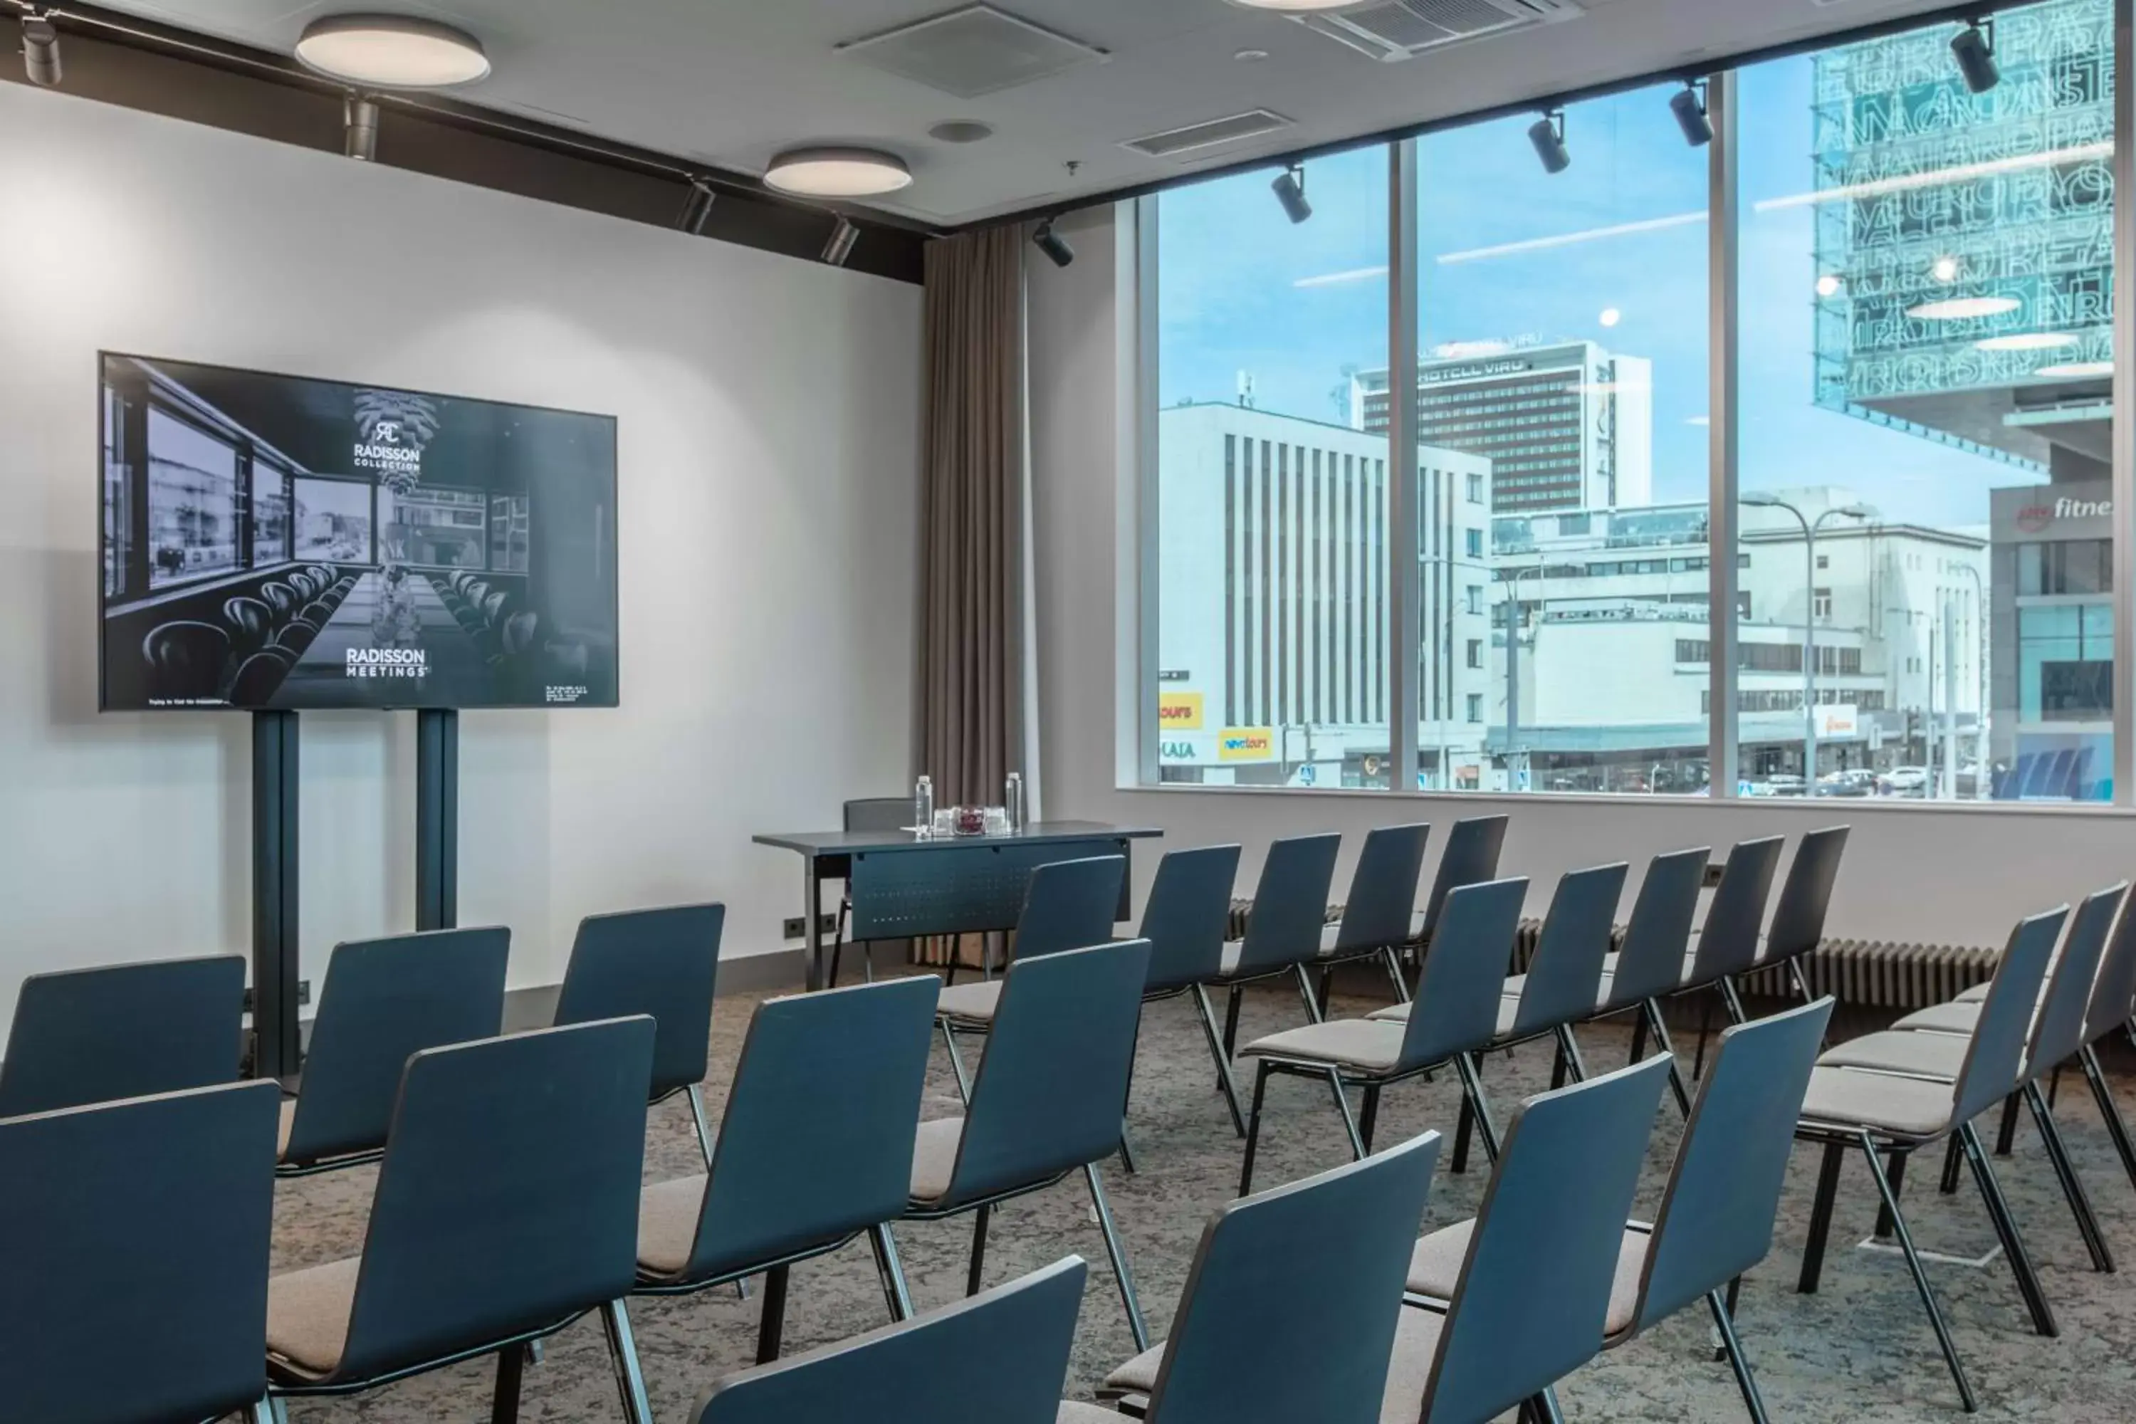
<instances>
[{"instance_id":1,"label":"white building with dark vertical window strips, yellow signs at its base","mask_svg":"<svg viewBox=\"0 0 2136 1424\"><path fill-rule=\"evenodd\" d=\"M1388 777L1386 438L1243 406L1158 416L1160 766ZM1420 766L1478 786L1491 461L1418 448Z\"/></svg>"}]
</instances>

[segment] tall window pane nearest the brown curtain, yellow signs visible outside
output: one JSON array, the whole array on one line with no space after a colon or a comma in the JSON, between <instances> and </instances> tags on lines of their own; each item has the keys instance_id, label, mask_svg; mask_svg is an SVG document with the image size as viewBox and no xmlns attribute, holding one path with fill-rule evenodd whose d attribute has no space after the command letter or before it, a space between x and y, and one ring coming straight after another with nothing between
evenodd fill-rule
<instances>
[{"instance_id":1,"label":"tall window pane nearest the brown curtain, yellow signs visible outside","mask_svg":"<svg viewBox=\"0 0 2136 1424\"><path fill-rule=\"evenodd\" d=\"M1307 222L1269 181L1158 209L1153 760L1166 781L1386 786L1391 472L1367 408L1388 152L1309 164Z\"/></svg>"}]
</instances>

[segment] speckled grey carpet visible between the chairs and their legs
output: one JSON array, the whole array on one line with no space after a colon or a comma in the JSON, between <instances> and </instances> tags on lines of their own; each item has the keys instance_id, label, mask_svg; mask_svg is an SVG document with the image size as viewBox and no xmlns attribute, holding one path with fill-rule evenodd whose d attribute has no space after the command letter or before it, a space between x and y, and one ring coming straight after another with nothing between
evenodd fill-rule
<instances>
[{"instance_id":1,"label":"speckled grey carpet visible between the chairs and their legs","mask_svg":"<svg viewBox=\"0 0 2136 1424\"><path fill-rule=\"evenodd\" d=\"M1373 1003L1337 997L1337 1014ZM713 1018L707 1097L716 1114L750 1008L750 999L722 999ZM1294 995L1256 993L1245 1006L1243 1033L1269 1033L1292 1027L1299 1018ZM1596 1067L1621 1063L1628 1050L1628 1033L1606 1025L1583 1029L1581 1042ZM1687 1053L1690 1040L1681 1046ZM2119 1065L2123 1110L2136 1117L2136 1082L2127 1076L2127 1055L2119 1055L2113 1063ZM1495 1104L1510 1106L1521 1093L1546 1087L1549 1070L1551 1055L1538 1044L1512 1059L1491 1059L1485 1085ZM1391 1091L1382 1106L1380 1140L1395 1142L1438 1127L1448 1134L1450 1157L1457 1104L1459 1091L1446 1078ZM938 1048L925 1114L946 1117L955 1110L955 1085ZM2016 1285L1999 1260L1984 1270L1931 1264L1980 1392L1978 1418L1984 1422L2108 1424L2136 1418L2136 1189L2121 1172L2091 1099L2074 1078L2063 1082L2059 1119L2108 1243L2123 1257L2125 1275L2091 1272L2027 1123L2019 1132L2016 1155L1997 1166L2040 1264L2061 1336L2031 1334ZM1126 1176L1113 1164L1106 1168L1106 1185L1151 1332L1162 1336L1200 1228L1232 1196L1239 1174L1239 1142L1213 1091L1207 1048L1185 999L1153 1006L1147 1014L1132 1123L1141 1174ZM1658 1123L1643 1208L1651 1208L1660 1193L1679 1136L1672 1108L1664 1106ZM1305 1080L1277 1078L1269 1091L1258 1185L1305 1176L1346 1157L1341 1123L1326 1091ZM1869 1234L1875 1215L1875 1189L1858 1159L1850 1161L1843 1176L1824 1287L1816 1296L1794 1294L1816 1166L1818 1151L1799 1146L1773 1255L1743 1287L1741 1330L1771 1418L1803 1424L1965 1418L1903 1262L1854 1249ZM1984 1255L1993 1232L1980 1198L1969 1181L1961 1196L1937 1196L1935 1166L1922 1161L1907 1189L1916 1238L1929 1251ZM662 1104L654 1110L647 1181L696 1170L701 1164L688 1110L679 1102ZM276 1268L357 1253L374 1176L374 1168L357 1168L282 1183L276 1204ZM1442 1159L1429 1223L1472 1215L1482 1183L1480 1155L1467 1176L1448 1174ZM963 1292L968 1219L904 1225L897 1240L921 1309L946 1304ZM1068 1375L1070 1394L1087 1396L1111 1366L1134 1354L1134 1345L1079 1181L1070 1178L995 1213L987 1281L1006 1281L1066 1253L1079 1253L1091 1264ZM716 1289L681 1300L634 1300L630 1309L660 1424L688 1420L716 1377L743 1368L754 1358L754 1292L750 1300L739 1300L733 1289ZM795 1268L786 1315L788 1351L859 1334L882 1322L882 1292L865 1245ZM1743 1407L1728 1366L1711 1362L1707 1334L1705 1317L1687 1313L1596 1360L1559 1390L1568 1420L1741 1420ZM297 1401L288 1413L295 1424L474 1422L489 1418L489 1381L487 1364L464 1364L361 1398ZM549 1343L547 1360L528 1373L521 1418L545 1424L622 1418L598 1322L583 1319ZM865 1418L865 1411L854 1418Z\"/></svg>"}]
</instances>

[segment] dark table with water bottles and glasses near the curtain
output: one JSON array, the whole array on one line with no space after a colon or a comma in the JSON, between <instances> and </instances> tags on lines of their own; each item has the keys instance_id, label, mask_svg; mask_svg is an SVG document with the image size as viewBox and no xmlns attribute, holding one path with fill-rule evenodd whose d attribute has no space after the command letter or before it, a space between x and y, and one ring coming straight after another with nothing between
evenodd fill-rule
<instances>
[{"instance_id":1,"label":"dark table with water bottles and glasses near the curtain","mask_svg":"<svg viewBox=\"0 0 2136 1424\"><path fill-rule=\"evenodd\" d=\"M824 978L824 880L846 882L854 942L1010 931L1040 865L1115 854L1132 860L1134 841L1160 835L1153 826L1049 820L1010 835L921 839L910 830L795 830L752 839L801 856L807 986L814 991ZM1119 920L1128 918L1130 882L1132 875L1121 882Z\"/></svg>"}]
</instances>

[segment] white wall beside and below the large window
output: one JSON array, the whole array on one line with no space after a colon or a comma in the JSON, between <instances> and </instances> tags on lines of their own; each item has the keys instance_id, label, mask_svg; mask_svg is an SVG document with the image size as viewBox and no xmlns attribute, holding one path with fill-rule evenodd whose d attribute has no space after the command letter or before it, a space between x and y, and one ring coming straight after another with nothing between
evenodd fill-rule
<instances>
[{"instance_id":1,"label":"white wall beside and below the large window","mask_svg":"<svg viewBox=\"0 0 2136 1424\"><path fill-rule=\"evenodd\" d=\"M1032 267L1032 500L1038 549L1038 696L1047 816L1156 824L1164 845L1241 841L1241 886L1282 835L1341 830L1354 856L1365 830L1395 820L1438 824L1508 811L1508 873L1534 877L1540 909L1555 877L1581 865L1852 822L1831 933L2001 944L2027 909L2136 875L2136 818L2121 811L2021 807L1935 809L1860 803L1681 803L1625 798L1388 796L1380 792L1128 788L1132 747L1115 724L1134 687L1117 636L1134 630L1126 431L1117 397L1128 350L1115 322L1111 213L1062 231L1077 263ZM1136 875L1147 886L1156 856ZM1350 858L1337 871L1348 877Z\"/></svg>"}]
</instances>

